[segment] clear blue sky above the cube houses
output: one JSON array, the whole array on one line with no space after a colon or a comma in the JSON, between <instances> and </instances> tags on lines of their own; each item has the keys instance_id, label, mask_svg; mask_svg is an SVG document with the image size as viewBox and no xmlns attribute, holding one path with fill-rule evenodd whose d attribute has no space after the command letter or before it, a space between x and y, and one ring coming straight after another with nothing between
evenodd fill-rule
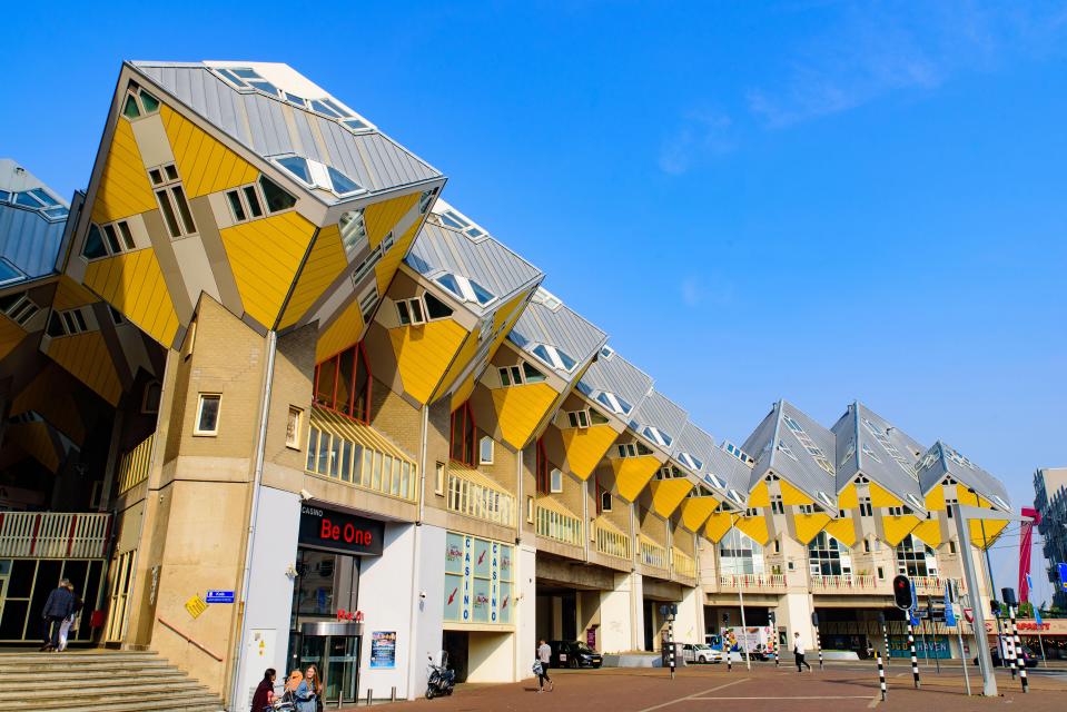
<instances>
[{"instance_id":1,"label":"clear blue sky above the cube houses","mask_svg":"<svg viewBox=\"0 0 1067 712\"><path fill-rule=\"evenodd\" d=\"M860 398L1016 506L1067 464L1067 8L315 4L8 12L0 155L70 194L122 59L287 62L718 439Z\"/></svg>"}]
</instances>

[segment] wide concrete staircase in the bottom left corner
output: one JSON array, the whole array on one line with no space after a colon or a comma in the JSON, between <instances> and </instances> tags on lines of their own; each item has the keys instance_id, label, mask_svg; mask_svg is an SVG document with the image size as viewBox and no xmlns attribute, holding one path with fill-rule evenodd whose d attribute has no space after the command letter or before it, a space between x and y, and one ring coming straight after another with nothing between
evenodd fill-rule
<instances>
[{"instance_id":1,"label":"wide concrete staircase in the bottom left corner","mask_svg":"<svg viewBox=\"0 0 1067 712\"><path fill-rule=\"evenodd\" d=\"M219 712L207 688L152 652L0 653L0 710Z\"/></svg>"}]
</instances>

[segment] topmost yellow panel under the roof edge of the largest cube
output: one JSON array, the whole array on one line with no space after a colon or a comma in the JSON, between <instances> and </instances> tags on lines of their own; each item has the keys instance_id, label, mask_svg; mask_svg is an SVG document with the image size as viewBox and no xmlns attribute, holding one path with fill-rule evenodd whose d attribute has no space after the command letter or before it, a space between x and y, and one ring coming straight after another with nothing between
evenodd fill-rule
<instances>
[{"instance_id":1,"label":"topmost yellow panel under the roof edge of the largest cube","mask_svg":"<svg viewBox=\"0 0 1067 712\"><path fill-rule=\"evenodd\" d=\"M255 181L259 171L248 161L164 105L159 108L178 175L190 198ZM120 121L121 122L121 121Z\"/></svg>"}]
</instances>

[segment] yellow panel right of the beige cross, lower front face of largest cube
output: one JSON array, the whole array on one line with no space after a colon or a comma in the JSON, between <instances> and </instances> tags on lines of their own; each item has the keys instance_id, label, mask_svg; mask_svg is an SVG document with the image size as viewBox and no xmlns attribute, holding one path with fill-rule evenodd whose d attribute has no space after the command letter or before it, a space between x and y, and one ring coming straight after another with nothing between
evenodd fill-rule
<instances>
[{"instance_id":1,"label":"yellow panel right of the beige cross, lower front face of largest cube","mask_svg":"<svg viewBox=\"0 0 1067 712\"><path fill-rule=\"evenodd\" d=\"M219 230L245 312L263 326L278 318L314 233L293 210Z\"/></svg>"}]
</instances>

